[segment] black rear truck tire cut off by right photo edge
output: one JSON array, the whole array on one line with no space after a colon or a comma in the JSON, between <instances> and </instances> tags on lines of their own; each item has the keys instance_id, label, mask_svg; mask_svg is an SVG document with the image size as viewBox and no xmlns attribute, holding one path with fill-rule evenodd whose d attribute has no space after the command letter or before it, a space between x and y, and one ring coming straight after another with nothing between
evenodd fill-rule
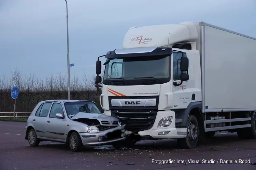
<instances>
[{"instance_id":1,"label":"black rear truck tire cut off by right photo edge","mask_svg":"<svg viewBox=\"0 0 256 170\"><path fill-rule=\"evenodd\" d=\"M237 135L240 139L256 139L256 113L252 116L252 126L250 128L238 129Z\"/></svg>"}]
</instances>

